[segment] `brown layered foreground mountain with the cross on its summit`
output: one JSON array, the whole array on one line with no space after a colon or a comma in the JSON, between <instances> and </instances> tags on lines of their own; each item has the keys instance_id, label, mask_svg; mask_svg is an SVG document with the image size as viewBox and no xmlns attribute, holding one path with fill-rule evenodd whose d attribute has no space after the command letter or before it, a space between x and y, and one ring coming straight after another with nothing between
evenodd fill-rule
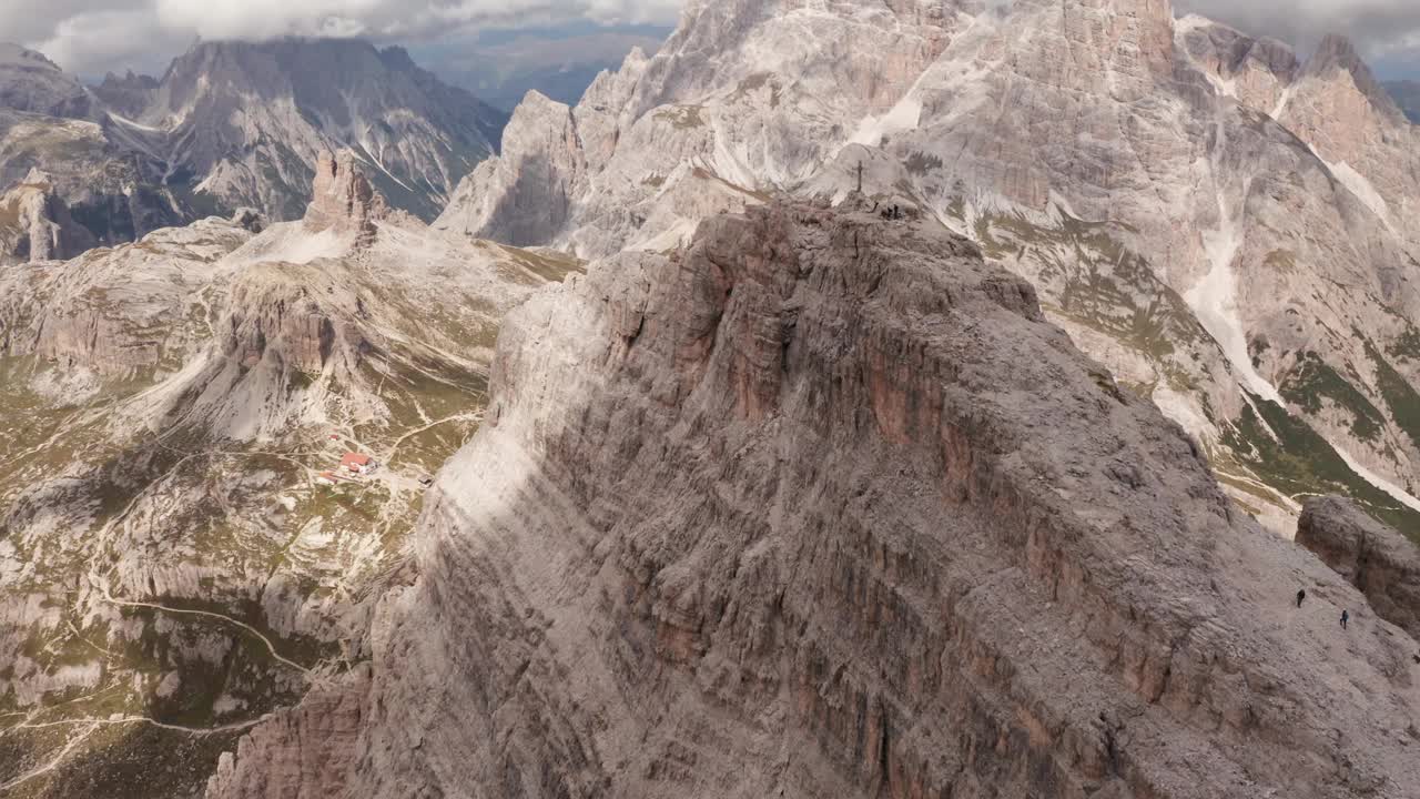
<instances>
[{"instance_id":1,"label":"brown layered foreground mountain with the cross on its summit","mask_svg":"<svg viewBox=\"0 0 1420 799\"><path fill-rule=\"evenodd\" d=\"M305 704L364 697L327 752L345 768L287 768L328 745L294 711L209 796L1420 779L1410 653L1383 624L1331 643L1329 603L1365 599L1234 515L1177 427L932 222L710 219L514 311L493 392L417 579L375 614L368 682ZM1323 589L1308 616L1296 579Z\"/></svg>"}]
</instances>

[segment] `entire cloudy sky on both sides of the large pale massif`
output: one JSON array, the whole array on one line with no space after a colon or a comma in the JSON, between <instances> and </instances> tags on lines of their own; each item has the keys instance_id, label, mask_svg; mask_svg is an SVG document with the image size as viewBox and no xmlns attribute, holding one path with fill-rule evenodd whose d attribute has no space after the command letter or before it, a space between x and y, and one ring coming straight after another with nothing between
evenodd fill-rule
<instances>
[{"instance_id":1,"label":"entire cloudy sky on both sides of the large pale massif","mask_svg":"<svg viewBox=\"0 0 1420 799\"><path fill-rule=\"evenodd\" d=\"M203 38L369 36L419 43L483 27L568 20L673 24L680 0L0 0L6 38L88 77L160 71ZM1389 75L1420 75L1420 0L1176 0L1251 33L1306 48L1326 31L1352 36Z\"/></svg>"}]
</instances>

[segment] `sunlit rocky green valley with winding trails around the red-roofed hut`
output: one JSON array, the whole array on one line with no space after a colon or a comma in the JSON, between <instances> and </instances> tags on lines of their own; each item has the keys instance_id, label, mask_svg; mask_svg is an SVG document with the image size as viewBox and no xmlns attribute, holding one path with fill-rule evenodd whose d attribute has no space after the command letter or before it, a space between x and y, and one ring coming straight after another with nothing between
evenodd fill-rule
<instances>
[{"instance_id":1,"label":"sunlit rocky green valley with winding trails around the red-roofed hut","mask_svg":"<svg viewBox=\"0 0 1420 799\"><path fill-rule=\"evenodd\" d=\"M500 310L579 269L381 218L354 161L320 166L331 213L0 274L0 793L199 795L368 661Z\"/></svg>"}]
</instances>

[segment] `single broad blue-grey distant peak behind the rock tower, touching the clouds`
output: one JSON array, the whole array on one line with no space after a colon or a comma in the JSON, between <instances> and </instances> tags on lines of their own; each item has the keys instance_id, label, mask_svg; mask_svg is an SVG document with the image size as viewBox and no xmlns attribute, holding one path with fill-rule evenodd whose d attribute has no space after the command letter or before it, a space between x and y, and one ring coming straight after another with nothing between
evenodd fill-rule
<instances>
[{"instance_id":1,"label":"single broad blue-grey distant peak behind the rock tower, touching the clouds","mask_svg":"<svg viewBox=\"0 0 1420 799\"><path fill-rule=\"evenodd\" d=\"M345 146L366 163L379 154L371 183L392 206L432 220L494 152L506 122L403 50L346 38L199 43L132 118L182 141L185 166L223 208L253 206L274 220L301 218L310 165Z\"/></svg>"}]
</instances>

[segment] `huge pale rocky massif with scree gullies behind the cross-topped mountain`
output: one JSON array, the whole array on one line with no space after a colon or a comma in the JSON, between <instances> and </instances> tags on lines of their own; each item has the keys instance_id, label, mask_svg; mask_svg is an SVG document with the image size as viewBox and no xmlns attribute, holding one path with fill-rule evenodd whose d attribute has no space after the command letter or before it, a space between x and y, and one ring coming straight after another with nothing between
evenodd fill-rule
<instances>
[{"instance_id":1,"label":"huge pale rocky massif with scree gullies behind the cross-topped mountain","mask_svg":"<svg viewBox=\"0 0 1420 799\"><path fill-rule=\"evenodd\" d=\"M1348 493L1420 532L1416 131L1346 40L1166 0L689 3L437 225L596 257L862 188L1031 280L1271 529Z\"/></svg>"}]
</instances>

